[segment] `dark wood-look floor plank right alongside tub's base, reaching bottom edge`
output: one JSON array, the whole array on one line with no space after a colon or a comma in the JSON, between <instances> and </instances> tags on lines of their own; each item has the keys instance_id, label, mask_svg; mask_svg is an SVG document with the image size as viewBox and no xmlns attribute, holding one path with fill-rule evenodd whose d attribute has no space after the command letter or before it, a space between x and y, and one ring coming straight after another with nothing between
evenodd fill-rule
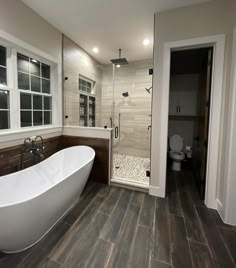
<instances>
[{"instance_id":1,"label":"dark wood-look floor plank right alongside tub's base, reaching bottom edge","mask_svg":"<svg viewBox=\"0 0 236 268\"><path fill-rule=\"evenodd\" d=\"M53 250L54 247L57 246L59 241L63 239L66 235L67 231L69 230L69 225L60 222L57 224L48 235L46 235L24 258L23 262L21 262L18 267L19 268L31 268L31 267L38 267L41 265L46 259L48 254Z\"/></svg>"}]
</instances>

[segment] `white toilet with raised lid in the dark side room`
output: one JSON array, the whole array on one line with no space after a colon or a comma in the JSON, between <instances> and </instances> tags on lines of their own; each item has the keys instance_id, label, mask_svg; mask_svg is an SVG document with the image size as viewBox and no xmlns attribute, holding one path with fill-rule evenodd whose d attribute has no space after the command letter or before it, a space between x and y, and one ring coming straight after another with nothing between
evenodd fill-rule
<instances>
[{"instance_id":1,"label":"white toilet with raised lid in the dark side room","mask_svg":"<svg viewBox=\"0 0 236 268\"><path fill-rule=\"evenodd\" d=\"M184 160L185 155L182 152L184 146L184 139L180 135L173 135L170 137L170 152L169 156L172 159L172 170L181 170L181 161Z\"/></svg>"}]
</instances>

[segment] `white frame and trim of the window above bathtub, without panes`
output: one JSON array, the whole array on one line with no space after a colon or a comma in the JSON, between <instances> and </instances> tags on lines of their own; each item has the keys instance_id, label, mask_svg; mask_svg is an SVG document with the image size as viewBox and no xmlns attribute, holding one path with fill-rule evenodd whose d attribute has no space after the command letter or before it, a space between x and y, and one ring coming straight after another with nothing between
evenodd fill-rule
<instances>
[{"instance_id":1,"label":"white frame and trim of the window above bathtub, without panes","mask_svg":"<svg viewBox=\"0 0 236 268\"><path fill-rule=\"evenodd\" d=\"M0 31L0 45L7 49L7 87L10 92L10 124L9 129L0 130L0 139L2 141L10 140L11 135L19 132L51 133L62 129L62 89L61 89L61 61L48 55L47 53L15 38L14 36ZM50 66L50 89L52 97L52 124L40 126L20 126L20 92L18 89L17 73L17 53L21 53L30 58L34 58ZM4 89L4 87L2 87ZM22 90L23 92L23 90ZM30 90L24 92L37 94ZM41 95L41 94L40 94ZM49 94L46 94L49 96ZM50 130L51 129L51 130ZM57 130L55 130L57 129ZM38 132L37 132L38 133ZM8 137L7 137L8 136Z\"/></svg>"}]
</instances>

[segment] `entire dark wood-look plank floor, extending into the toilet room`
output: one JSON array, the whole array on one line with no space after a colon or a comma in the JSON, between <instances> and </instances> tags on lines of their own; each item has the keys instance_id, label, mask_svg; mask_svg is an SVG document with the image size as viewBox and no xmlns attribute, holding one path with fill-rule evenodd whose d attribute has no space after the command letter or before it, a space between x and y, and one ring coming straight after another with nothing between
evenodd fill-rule
<instances>
[{"instance_id":1,"label":"entire dark wood-look plank floor, extending into the toilet room","mask_svg":"<svg viewBox=\"0 0 236 268\"><path fill-rule=\"evenodd\" d=\"M89 183L36 246L1 268L231 268L236 228L207 209L190 171L168 171L167 198Z\"/></svg>"}]
</instances>

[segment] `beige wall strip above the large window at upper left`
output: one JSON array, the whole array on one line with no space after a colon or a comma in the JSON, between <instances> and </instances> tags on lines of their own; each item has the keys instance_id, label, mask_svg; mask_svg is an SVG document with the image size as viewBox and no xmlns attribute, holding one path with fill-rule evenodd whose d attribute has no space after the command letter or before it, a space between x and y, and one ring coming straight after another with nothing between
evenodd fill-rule
<instances>
[{"instance_id":1,"label":"beige wall strip above the large window at upper left","mask_svg":"<svg viewBox=\"0 0 236 268\"><path fill-rule=\"evenodd\" d=\"M62 34L19 0L0 0L0 29L61 59Z\"/></svg>"}]
</instances>

